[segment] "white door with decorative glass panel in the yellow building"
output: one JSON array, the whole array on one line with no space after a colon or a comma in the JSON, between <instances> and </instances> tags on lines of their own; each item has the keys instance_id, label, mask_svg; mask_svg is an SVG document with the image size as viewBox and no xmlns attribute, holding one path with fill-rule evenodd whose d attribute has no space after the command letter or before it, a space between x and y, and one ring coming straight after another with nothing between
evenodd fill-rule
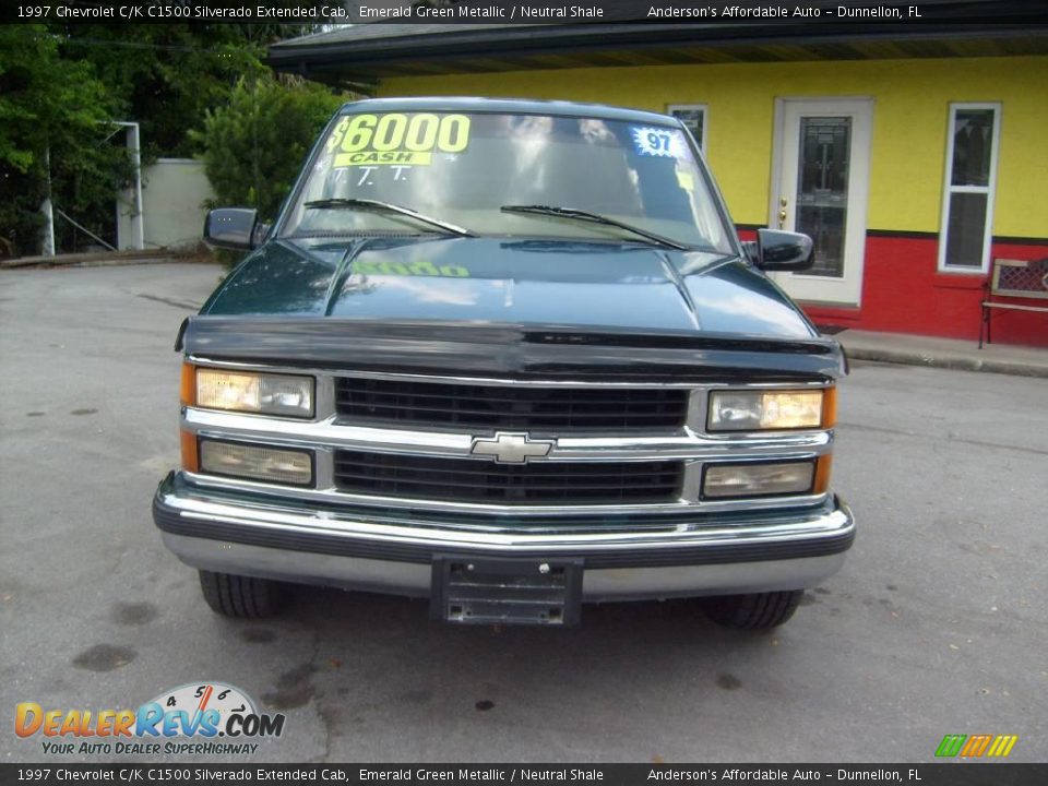
<instances>
[{"instance_id":1,"label":"white door with decorative glass panel in the yellow building","mask_svg":"<svg viewBox=\"0 0 1048 786\"><path fill-rule=\"evenodd\" d=\"M864 98L776 100L769 226L815 247L810 270L774 274L797 300L859 305L872 116Z\"/></svg>"}]
</instances>

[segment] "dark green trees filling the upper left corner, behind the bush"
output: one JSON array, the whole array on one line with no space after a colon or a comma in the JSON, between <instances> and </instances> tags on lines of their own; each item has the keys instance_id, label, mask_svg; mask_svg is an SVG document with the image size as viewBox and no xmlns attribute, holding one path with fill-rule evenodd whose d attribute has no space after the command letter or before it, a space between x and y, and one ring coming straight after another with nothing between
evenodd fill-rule
<instances>
[{"instance_id":1,"label":"dark green trees filling the upper left corner, behind the bush","mask_svg":"<svg viewBox=\"0 0 1048 786\"><path fill-rule=\"evenodd\" d=\"M299 2L308 5L311 0ZM39 249L48 150L56 206L115 241L115 198L128 182L130 163L124 134L112 121L139 123L142 160L147 165L159 156L199 152L190 131L204 127L209 110L225 107L242 90L240 82L269 85L267 99L288 110L312 112L320 88L287 88L297 98L283 102L278 93L285 88L261 62L267 44L308 32L308 26L276 24L53 21L0 26L0 255ZM267 119L271 115L259 109L259 128ZM289 139L299 139L296 118L279 128L291 134ZM263 138L273 143L264 131ZM276 144L272 155L283 151L287 165L277 167L260 156L253 163L258 177L299 166L300 148L288 150L281 138ZM250 184L255 193L266 188L255 180ZM248 195L238 194L234 201L243 202ZM56 229L60 249L76 250L83 236L60 218Z\"/></svg>"}]
</instances>

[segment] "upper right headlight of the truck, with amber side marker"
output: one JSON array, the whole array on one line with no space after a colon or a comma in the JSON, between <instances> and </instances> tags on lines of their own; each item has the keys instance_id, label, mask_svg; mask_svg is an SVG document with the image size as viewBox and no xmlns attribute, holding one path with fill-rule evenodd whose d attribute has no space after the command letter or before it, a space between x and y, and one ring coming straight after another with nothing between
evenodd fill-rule
<instances>
[{"instance_id":1,"label":"upper right headlight of the truck, with amber side marker","mask_svg":"<svg viewBox=\"0 0 1048 786\"><path fill-rule=\"evenodd\" d=\"M785 391L713 391L711 431L830 428L835 389Z\"/></svg>"}]
</instances>

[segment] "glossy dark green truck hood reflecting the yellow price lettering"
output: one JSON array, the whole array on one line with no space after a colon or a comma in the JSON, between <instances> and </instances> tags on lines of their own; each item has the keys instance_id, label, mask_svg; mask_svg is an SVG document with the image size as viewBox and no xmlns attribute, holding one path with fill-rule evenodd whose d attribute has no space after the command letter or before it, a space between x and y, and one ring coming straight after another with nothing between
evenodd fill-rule
<instances>
[{"instance_id":1,"label":"glossy dark green truck hood reflecting the yellow price lettering","mask_svg":"<svg viewBox=\"0 0 1048 786\"><path fill-rule=\"evenodd\" d=\"M271 241L201 313L818 336L774 283L739 259L577 240Z\"/></svg>"}]
</instances>

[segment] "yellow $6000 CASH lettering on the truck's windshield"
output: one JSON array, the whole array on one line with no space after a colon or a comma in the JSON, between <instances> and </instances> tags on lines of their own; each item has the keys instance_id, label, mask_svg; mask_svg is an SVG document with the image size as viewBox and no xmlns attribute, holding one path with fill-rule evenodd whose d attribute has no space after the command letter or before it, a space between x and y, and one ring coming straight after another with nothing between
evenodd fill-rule
<instances>
[{"instance_id":1,"label":"yellow $6000 CASH lettering on the truck's windshield","mask_svg":"<svg viewBox=\"0 0 1048 786\"><path fill-rule=\"evenodd\" d=\"M354 115L327 139L332 166L426 166L433 153L462 153L469 144L465 115Z\"/></svg>"}]
</instances>

